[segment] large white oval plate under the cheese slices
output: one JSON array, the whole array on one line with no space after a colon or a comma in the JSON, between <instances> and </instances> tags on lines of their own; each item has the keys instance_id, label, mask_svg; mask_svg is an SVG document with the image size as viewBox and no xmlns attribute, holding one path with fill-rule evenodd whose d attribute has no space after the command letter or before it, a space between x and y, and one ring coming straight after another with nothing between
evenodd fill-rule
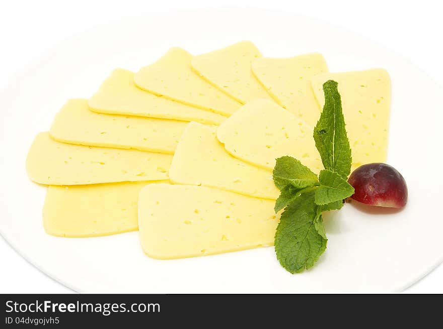
<instances>
[{"instance_id":1,"label":"large white oval plate under the cheese slices","mask_svg":"<svg viewBox=\"0 0 443 329\"><path fill-rule=\"evenodd\" d=\"M380 212L352 204L327 215L328 249L318 264L291 275L273 248L161 261L146 257L136 232L89 239L45 234L45 188L31 183L25 158L69 97L89 97L113 68L137 70L170 46L194 54L252 40L265 56L321 52L331 71L383 67L392 76L389 163L404 175L409 202ZM27 260L81 292L389 292L443 260L441 155L443 90L404 58L353 33L269 11L153 14L99 26L58 45L27 67L0 98L2 215L5 239ZM437 177L437 178L436 178Z\"/></svg>"}]
</instances>

